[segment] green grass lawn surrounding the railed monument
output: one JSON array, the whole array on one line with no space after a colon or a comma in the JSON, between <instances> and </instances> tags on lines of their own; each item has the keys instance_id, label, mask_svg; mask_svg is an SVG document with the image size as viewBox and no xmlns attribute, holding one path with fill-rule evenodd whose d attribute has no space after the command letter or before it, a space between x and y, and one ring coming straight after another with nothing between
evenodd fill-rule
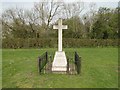
<instances>
[{"instance_id":1,"label":"green grass lawn surrounding the railed monument","mask_svg":"<svg viewBox=\"0 0 120 90\"><path fill-rule=\"evenodd\" d=\"M3 49L3 88L117 88L117 48L66 48L82 57L80 75L38 74L37 58L57 49ZM68 53L69 54L69 53Z\"/></svg>"}]
</instances>

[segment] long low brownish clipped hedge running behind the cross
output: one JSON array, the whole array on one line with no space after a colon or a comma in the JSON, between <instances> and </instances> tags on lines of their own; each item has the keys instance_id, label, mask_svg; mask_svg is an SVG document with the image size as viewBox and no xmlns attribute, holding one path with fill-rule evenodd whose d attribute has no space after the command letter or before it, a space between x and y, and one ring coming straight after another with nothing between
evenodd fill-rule
<instances>
[{"instance_id":1,"label":"long low brownish clipped hedge running behind the cross","mask_svg":"<svg viewBox=\"0 0 120 90\"><path fill-rule=\"evenodd\" d=\"M57 48L57 38L3 39L2 48ZM63 38L63 47L106 47L118 46L117 39L74 39Z\"/></svg>"}]
</instances>

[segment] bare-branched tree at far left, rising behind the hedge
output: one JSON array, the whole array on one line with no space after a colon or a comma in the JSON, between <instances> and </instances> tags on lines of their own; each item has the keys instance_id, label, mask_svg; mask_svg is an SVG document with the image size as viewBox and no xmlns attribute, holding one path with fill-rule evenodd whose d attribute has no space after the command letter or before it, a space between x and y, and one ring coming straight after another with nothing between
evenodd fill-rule
<instances>
[{"instance_id":1,"label":"bare-branched tree at far left, rising behind the hedge","mask_svg":"<svg viewBox=\"0 0 120 90\"><path fill-rule=\"evenodd\" d=\"M11 34L13 32L26 31L26 18L23 9L8 9L2 13L3 35ZM19 33L18 33L19 34ZM19 36L14 34L15 36Z\"/></svg>"}]
</instances>

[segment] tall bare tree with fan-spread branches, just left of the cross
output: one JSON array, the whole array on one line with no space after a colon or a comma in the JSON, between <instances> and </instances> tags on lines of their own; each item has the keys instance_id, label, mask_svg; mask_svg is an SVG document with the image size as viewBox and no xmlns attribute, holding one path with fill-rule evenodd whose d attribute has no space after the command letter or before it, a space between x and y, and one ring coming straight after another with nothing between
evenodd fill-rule
<instances>
[{"instance_id":1,"label":"tall bare tree with fan-spread branches, just left of the cross","mask_svg":"<svg viewBox=\"0 0 120 90\"><path fill-rule=\"evenodd\" d=\"M35 13L38 19L41 21L41 25L44 29L48 30L49 25L55 16L60 13L62 3L54 2L40 2L35 4Z\"/></svg>"}]
</instances>

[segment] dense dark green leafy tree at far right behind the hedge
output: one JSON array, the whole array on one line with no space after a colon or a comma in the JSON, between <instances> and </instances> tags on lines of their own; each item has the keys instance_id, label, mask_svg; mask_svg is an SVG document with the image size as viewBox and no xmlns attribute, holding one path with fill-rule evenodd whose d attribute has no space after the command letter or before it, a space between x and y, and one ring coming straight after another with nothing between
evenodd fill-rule
<instances>
[{"instance_id":1,"label":"dense dark green leafy tree at far right behind the hedge","mask_svg":"<svg viewBox=\"0 0 120 90\"><path fill-rule=\"evenodd\" d=\"M118 38L118 12L117 8L100 8L97 20L93 24L91 38L116 39Z\"/></svg>"}]
</instances>

